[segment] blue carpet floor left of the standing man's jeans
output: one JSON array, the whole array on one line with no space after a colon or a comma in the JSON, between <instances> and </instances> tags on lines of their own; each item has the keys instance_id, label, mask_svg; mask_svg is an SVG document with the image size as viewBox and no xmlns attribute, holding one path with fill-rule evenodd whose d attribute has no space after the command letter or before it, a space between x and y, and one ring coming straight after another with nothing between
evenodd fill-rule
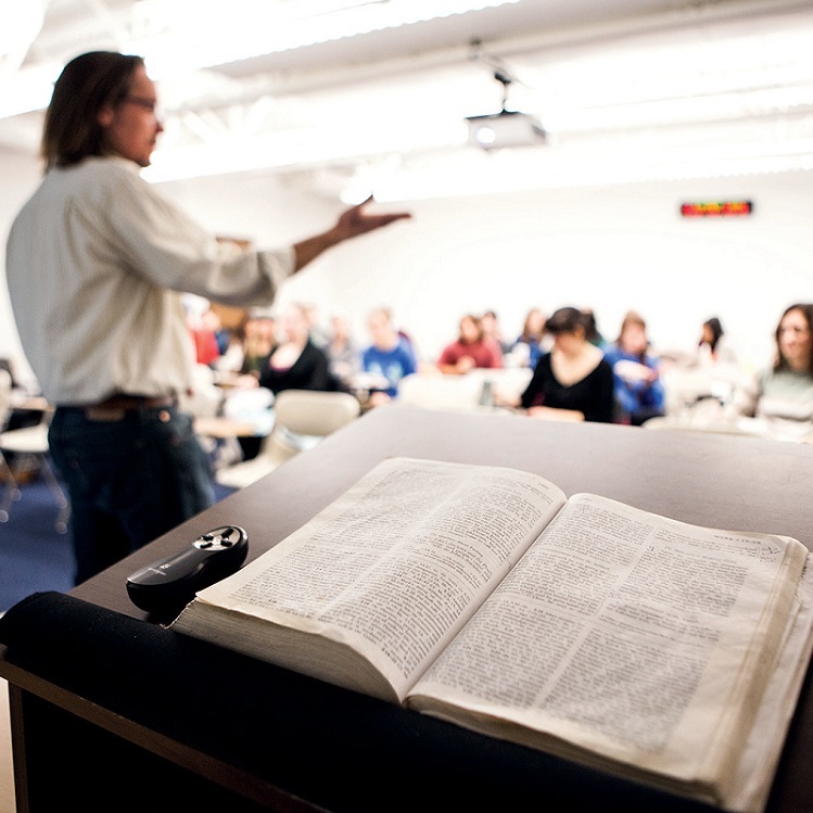
<instances>
[{"instance_id":1,"label":"blue carpet floor left of the standing man's jeans","mask_svg":"<svg viewBox=\"0 0 813 813\"><path fill-rule=\"evenodd\" d=\"M0 500L4 488L0 483ZM8 521L0 522L0 612L33 593L73 587L71 536L56 531L59 509L48 485L36 479L21 491ZM227 493L216 488L218 499Z\"/></svg>"}]
</instances>

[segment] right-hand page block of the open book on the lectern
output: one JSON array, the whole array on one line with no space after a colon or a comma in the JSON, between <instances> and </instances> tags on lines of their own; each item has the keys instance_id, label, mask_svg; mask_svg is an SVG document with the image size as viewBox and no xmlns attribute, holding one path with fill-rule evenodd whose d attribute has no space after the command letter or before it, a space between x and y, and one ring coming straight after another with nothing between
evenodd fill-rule
<instances>
[{"instance_id":1,"label":"right-hand page block of the open book on the lectern","mask_svg":"<svg viewBox=\"0 0 813 813\"><path fill-rule=\"evenodd\" d=\"M575 495L408 704L719 802L805 559L787 537Z\"/></svg>"}]
</instances>

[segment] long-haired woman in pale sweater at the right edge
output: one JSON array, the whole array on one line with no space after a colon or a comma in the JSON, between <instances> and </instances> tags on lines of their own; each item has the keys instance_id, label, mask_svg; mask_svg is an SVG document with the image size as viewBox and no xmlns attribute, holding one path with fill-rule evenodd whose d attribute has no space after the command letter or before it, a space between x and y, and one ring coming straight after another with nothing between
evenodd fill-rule
<instances>
[{"instance_id":1,"label":"long-haired woman in pale sweater at the right edge","mask_svg":"<svg viewBox=\"0 0 813 813\"><path fill-rule=\"evenodd\" d=\"M813 304L790 305L775 342L774 364L736 393L734 408L778 427L813 429Z\"/></svg>"}]
</instances>

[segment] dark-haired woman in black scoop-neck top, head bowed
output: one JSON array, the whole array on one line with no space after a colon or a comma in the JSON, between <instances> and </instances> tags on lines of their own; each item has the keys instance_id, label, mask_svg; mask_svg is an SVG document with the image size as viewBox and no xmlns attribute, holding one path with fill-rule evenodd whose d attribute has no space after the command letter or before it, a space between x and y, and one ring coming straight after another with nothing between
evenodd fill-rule
<instances>
[{"instance_id":1,"label":"dark-haired woman in black scoop-neck top, head bowed","mask_svg":"<svg viewBox=\"0 0 813 813\"><path fill-rule=\"evenodd\" d=\"M615 410L612 368L587 341L584 314L559 308L545 330L554 347L539 358L519 405L532 418L610 423Z\"/></svg>"}]
</instances>

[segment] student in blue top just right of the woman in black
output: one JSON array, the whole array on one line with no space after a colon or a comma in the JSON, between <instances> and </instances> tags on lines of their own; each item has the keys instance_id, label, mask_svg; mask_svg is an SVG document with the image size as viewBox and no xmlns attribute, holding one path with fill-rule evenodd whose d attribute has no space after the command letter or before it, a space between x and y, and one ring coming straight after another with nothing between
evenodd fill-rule
<instances>
[{"instance_id":1,"label":"student in blue top just right of the woman in black","mask_svg":"<svg viewBox=\"0 0 813 813\"><path fill-rule=\"evenodd\" d=\"M631 310L621 322L615 344L605 353L612 367L621 423L640 427L665 414L666 392L659 360L649 354L646 321Z\"/></svg>"}]
</instances>

